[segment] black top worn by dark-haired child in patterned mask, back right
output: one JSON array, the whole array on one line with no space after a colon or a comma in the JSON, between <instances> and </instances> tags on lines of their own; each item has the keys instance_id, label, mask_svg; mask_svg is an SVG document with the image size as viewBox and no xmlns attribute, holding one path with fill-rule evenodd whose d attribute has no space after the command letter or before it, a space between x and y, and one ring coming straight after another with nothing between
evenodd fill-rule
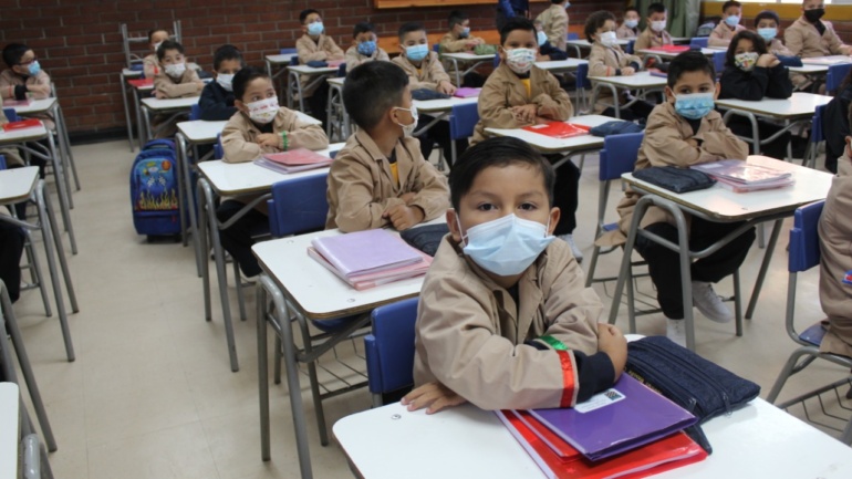
<instances>
[{"instance_id":1,"label":"black top worn by dark-haired child in patterned mask, back right","mask_svg":"<svg viewBox=\"0 0 852 479\"><path fill-rule=\"evenodd\" d=\"M745 72L737 66L727 66L721 73L719 98L760 101L769 98L789 98L793 94L793 84L787 66L771 69L755 66Z\"/></svg>"}]
</instances>

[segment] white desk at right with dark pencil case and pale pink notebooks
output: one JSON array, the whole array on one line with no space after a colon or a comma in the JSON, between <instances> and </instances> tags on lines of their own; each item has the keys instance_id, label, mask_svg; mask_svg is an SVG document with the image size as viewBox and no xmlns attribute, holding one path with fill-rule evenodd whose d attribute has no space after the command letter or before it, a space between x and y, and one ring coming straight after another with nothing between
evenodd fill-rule
<instances>
[{"instance_id":1,"label":"white desk at right with dark pencil case and pale pink notebooks","mask_svg":"<svg viewBox=\"0 0 852 479\"><path fill-rule=\"evenodd\" d=\"M619 280L615 285L615 292L612 296L613 302L610 310L611 324L614 324L615 320L617 319L625 281L631 278L631 254L633 252L636 237L641 235L644 238L663 244L673 251L679 252L680 254L679 268L680 282L683 284L684 321L686 322L686 345L689 350L695 351L693 291L692 275L689 270L692 260L705 258L714 253L719 248L727 244L732 239L737 238L740 233L747 231L756 225L772 221L775 222L772 233L769 238L769 243L766 248L766 251L763 252L763 261L760 265L760 271L758 272L757 280L751 293L751 300L746 313L746 317L750 319L757 303L757 299L760 294L760 288L762 287L763 279L766 278L766 272L769 268L769 261L772 258L772 251L775 250L775 246L778 242L778 236L781 232L783 219L791 217L796 209L802 205L825 199L829 188L831 187L832 175L766 156L749 156L748 163L767 166L782 171L789 171L792 174L796 184L786 188L744 194L734 192L723 188L719 185L714 185L710 188L698 191L676 194L642 181L635 178L632 173L622 175L623 183L643 196L634 208L633 220L630 226L630 235L627 236L627 242L624 244L624 253L622 258ZM666 241L663 238L645 231L638 227L643 216L647 211L647 208L651 206L664 208L674 217L675 226L679 231L678 241L676 243ZM693 251L689 249L687 237L688 229L686 227L685 219L685 215L687 214L708 221L744 221L744 225L716 243L700 251ZM635 333L635 311L631 301L633 294L632 282L627 281L627 314L630 321L630 332ZM737 336L742 335L742 314L740 308L741 301L739 289L738 275L735 274L735 323Z\"/></svg>"}]
</instances>

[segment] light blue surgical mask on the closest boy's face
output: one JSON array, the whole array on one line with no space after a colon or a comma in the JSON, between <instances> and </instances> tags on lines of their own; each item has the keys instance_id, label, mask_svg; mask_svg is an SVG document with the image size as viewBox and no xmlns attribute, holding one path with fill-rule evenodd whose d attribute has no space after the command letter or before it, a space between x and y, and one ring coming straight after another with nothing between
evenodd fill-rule
<instances>
[{"instance_id":1,"label":"light blue surgical mask on the closest boy's face","mask_svg":"<svg viewBox=\"0 0 852 479\"><path fill-rule=\"evenodd\" d=\"M460 223L458 228L460 231ZM548 235L550 225L507 215L469 228L463 237L463 251L480 268L495 274L520 274L555 239Z\"/></svg>"}]
</instances>

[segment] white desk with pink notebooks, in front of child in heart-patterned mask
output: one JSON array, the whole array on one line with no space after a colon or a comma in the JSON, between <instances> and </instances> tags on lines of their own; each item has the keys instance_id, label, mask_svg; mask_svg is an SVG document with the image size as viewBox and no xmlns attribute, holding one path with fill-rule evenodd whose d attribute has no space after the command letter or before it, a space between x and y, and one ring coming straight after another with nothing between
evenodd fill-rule
<instances>
[{"instance_id":1,"label":"white desk with pink notebooks, in front of child in heart-patterned mask","mask_svg":"<svg viewBox=\"0 0 852 479\"><path fill-rule=\"evenodd\" d=\"M321 155L331 155L332 152L342 149L344 144L337 143L329 145L326 149L318 150ZM287 179L304 177L310 175L328 175L329 168L311 169L290 175L272 171L262 166L254 165L252 162L246 163L225 163L220 159L204 162L196 165L199 177L197 185L198 198L198 231L196 235L199 241L199 251L204 254L209 251L207 244L208 235L201 231L208 231L212 240L214 257L216 260L216 274L219 282L219 296L222 306L222 321L228 341L228 355L230 356L231 371L239 371L237 361L237 348L233 341L233 326L231 323L230 301L228 300L228 277L225 271L225 250L219 241L219 230L230 227L235 221L245 216L256 205L270 198L272 184ZM216 217L216 199L219 197L243 198L249 201L237 215L228 221L221 223ZM201 278L204 281L205 295L205 319L212 320L210 308L210 271L208 261L201 261ZM239 285L238 285L239 288ZM240 306L240 317L246 320L246 305L242 303L242 295L237 295Z\"/></svg>"}]
</instances>

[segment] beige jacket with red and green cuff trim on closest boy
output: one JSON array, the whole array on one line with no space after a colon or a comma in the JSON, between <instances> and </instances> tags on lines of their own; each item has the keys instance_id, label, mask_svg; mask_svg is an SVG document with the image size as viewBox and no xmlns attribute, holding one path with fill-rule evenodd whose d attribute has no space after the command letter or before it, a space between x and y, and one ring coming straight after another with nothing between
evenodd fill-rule
<instances>
[{"instance_id":1,"label":"beige jacket with red and green cuff trim on closest boy","mask_svg":"<svg viewBox=\"0 0 852 479\"><path fill-rule=\"evenodd\" d=\"M553 241L518 281L519 304L447 236L426 274L415 325L414 384L440 382L482 409L573 406L574 355L524 345L551 335L572 351L598 352L603 306L563 241ZM565 384L573 397L563 403Z\"/></svg>"}]
</instances>

